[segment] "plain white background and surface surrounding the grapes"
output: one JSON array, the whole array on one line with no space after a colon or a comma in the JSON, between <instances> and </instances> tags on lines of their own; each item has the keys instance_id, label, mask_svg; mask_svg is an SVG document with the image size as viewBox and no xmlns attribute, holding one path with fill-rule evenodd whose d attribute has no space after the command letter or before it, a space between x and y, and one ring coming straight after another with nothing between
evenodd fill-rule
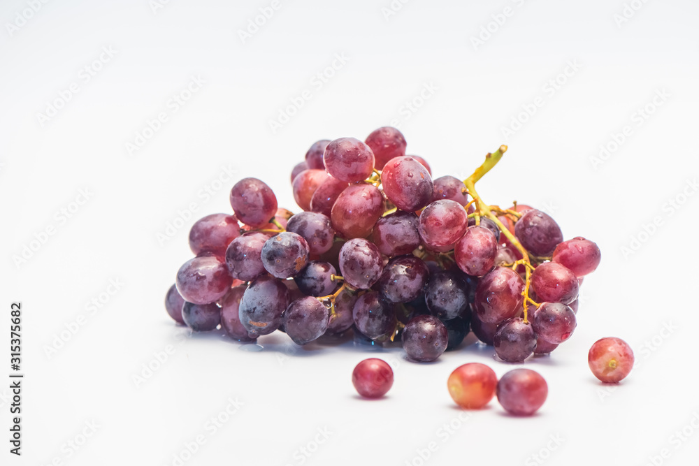
<instances>
[{"instance_id":1,"label":"plain white background and surface surrounding the grapes","mask_svg":"<svg viewBox=\"0 0 699 466\"><path fill-rule=\"evenodd\" d=\"M26 378L22 458L8 453L9 391L0 384L1 463L172 465L203 435L184 464L417 466L431 442L424 464L531 465L542 452L552 465L644 465L663 449L656 464L696 464L699 432L675 432L693 419L699 427L696 335L686 328L697 310L699 4L636 0L619 23L621 0L412 0L389 16L389 0L282 0L243 43L238 31L270 3L56 0L31 13L27 1L2 2L0 374L10 372L9 308L18 300ZM498 26L492 15L505 7ZM103 47L115 54L103 54L87 82L81 70ZM312 85L336 54L347 62ZM174 112L168 101L192 76L205 83ZM78 92L41 122L73 83ZM420 101L425 86L434 90ZM273 132L269 121L304 89L312 98ZM656 92L666 95L658 107ZM537 97L535 114L519 116ZM413 99L415 112L405 106ZM639 120L646 105L654 112ZM167 121L129 154L127 143L160 112ZM506 137L517 118L526 122ZM296 349L279 333L250 352L220 333L189 336L166 315L165 292L191 255L189 226L230 212L238 178L261 178L281 206L298 210L289 173L315 140L363 139L387 124L400 126L408 153L426 157L435 177L466 177L506 143L479 184L484 199L540 207L566 238L600 245L572 340L526 363L549 384L536 416L506 416L496 400L480 412L455 409L446 389L455 367L480 361L498 376L513 367L479 344L426 365L405 361L399 347ZM627 125L630 136L595 166L600 145ZM226 170L237 174L222 186ZM81 189L89 200L70 219L57 214L76 207ZM182 228L159 241L168 223ZM632 238L640 244L624 254ZM110 279L120 289L101 294ZM48 353L81 315L77 333ZM610 335L629 342L639 364L618 388L598 383L586 362L591 344ZM134 376L168 345L167 361L137 386ZM380 401L359 400L350 381L368 356L394 365ZM211 435L206 423L229 398L243 405ZM82 442L86 422L99 427L75 451L67 442ZM319 429L331 434L314 444ZM299 453L306 446L310 457Z\"/></svg>"}]
</instances>

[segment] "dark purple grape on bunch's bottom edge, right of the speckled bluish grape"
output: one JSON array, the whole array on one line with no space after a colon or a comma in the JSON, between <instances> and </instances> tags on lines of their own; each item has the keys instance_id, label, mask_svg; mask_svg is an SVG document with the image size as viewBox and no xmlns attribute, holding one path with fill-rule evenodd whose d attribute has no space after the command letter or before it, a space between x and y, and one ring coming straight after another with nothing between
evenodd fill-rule
<instances>
[{"instance_id":1,"label":"dark purple grape on bunch's bottom edge, right of the speckled bluish grape","mask_svg":"<svg viewBox=\"0 0 699 466\"><path fill-rule=\"evenodd\" d=\"M330 312L311 296L292 301L284 312L284 332L296 344L307 344L321 337L328 329Z\"/></svg>"}]
</instances>

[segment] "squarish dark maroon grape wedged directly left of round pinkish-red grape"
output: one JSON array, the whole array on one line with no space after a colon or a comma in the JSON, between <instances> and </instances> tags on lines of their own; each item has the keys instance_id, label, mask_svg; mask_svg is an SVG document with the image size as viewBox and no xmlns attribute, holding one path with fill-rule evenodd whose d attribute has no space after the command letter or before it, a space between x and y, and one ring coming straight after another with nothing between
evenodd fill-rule
<instances>
[{"instance_id":1,"label":"squarish dark maroon grape wedged directly left of round pinkish-red grape","mask_svg":"<svg viewBox=\"0 0 699 466\"><path fill-rule=\"evenodd\" d=\"M417 215L398 210L376 222L371 238L379 251L389 257L410 254L421 241L417 224Z\"/></svg>"}]
</instances>

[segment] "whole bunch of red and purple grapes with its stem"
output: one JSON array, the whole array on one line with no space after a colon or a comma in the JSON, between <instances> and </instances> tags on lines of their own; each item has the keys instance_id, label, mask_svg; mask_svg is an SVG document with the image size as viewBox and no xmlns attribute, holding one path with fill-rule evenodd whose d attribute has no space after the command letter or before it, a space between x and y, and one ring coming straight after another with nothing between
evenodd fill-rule
<instances>
[{"instance_id":1,"label":"whole bunch of red and purple grapes with its stem","mask_svg":"<svg viewBox=\"0 0 699 466\"><path fill-rule=\"evenodd\" d=\"M466 180L433 179L406 147L388 126L317 141L291 171L296 214L261 180L237 182L232 215L192 226L195 257L168 290L168 314L241 342L275 330L299 345L350 332L400 341L416 362L459 349L469 332L511 363L568 340L597 245L564 241L540 210L483 200L475 185L507 146Z\"/></svg>"}]
</instances>

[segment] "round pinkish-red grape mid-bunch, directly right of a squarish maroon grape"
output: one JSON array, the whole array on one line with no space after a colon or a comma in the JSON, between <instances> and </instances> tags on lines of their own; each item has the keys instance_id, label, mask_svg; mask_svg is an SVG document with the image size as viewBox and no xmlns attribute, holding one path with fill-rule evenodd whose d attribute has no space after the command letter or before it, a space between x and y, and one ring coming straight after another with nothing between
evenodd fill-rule
<instances>
[{"instance_id":1,"label":"round pinkish-red grape mid-bunch, directly right of a squarish maroon grape","mask_svg":"<svg viewBox=\"0 0 699 466\"><path fill-rule=\"evenodd\" d=\"M466 233L467 219L463 205L445 199L431 203L422 211L417 229L427 245L444 247L453 245Z\"/></svg>"}]
</instances>

